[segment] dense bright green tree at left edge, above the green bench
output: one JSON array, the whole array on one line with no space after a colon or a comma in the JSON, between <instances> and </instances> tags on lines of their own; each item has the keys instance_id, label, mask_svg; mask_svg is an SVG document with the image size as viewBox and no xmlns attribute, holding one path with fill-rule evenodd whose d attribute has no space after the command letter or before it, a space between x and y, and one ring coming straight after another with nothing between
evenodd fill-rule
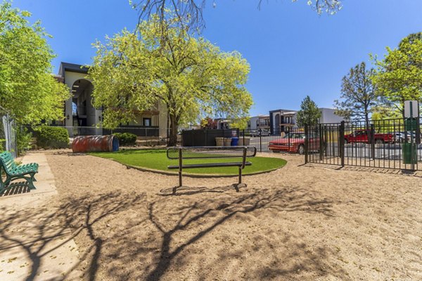
<instances>
[{"instance_id":1,"label":"dense bright green tree at left edge, above the green bench","mask_svg":"<svg viewBox=\"0 0 422 281\"><path fill-rule=\"evenodd\" d=\"M51 75L53 52L40 22L30 13L0 4L0 105L23 123L63 118L70 91Z\"/></svg>"}]
</instances>

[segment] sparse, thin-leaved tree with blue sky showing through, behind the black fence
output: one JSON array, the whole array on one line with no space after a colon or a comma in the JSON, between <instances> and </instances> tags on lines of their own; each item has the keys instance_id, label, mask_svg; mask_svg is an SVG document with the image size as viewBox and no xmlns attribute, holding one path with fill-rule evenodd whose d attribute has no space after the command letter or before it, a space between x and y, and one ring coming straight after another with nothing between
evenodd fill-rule
<instances>
[{"instance_id":1,"label":"sparse, thin-leaved tree with blue sky showing through, behind the black fence","mask_svg":"<svg viewBox=\"0 0 422 281\"><path fill-rule=\"evenodd\" d=\"M350 69L343 77L340 100L334 101L336 115L345 119L364 119L369 125L369 116L381 103L371 80L374 72L367 70L364 62Z\"/></svg>"}]
</instances>

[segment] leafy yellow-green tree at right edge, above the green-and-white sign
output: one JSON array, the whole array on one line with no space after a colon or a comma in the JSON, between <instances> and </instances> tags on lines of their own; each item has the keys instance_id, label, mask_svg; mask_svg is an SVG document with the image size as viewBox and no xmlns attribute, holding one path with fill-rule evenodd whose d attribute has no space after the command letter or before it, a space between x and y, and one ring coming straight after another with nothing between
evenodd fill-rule
<instances>
[{"instance_id":1,"label":"leafy yellow-green tree at right edge, above the green-and-white sign","mask_svg":"<svg viewBox=\"0 0 422 281\"><path fill-rule=\"evenodd\" d=\"M403 116L404 100L422 101L422 33L410 34L387 52L376 60L373 83Z\"/></svg>"}]
</instances>

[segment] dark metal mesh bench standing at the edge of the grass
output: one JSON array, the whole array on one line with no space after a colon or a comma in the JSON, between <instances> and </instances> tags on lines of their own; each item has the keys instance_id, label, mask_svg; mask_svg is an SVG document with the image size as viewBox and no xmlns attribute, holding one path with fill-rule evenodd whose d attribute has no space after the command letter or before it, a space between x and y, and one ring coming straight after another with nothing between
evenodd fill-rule
<instances>
[{"instance_id":1,"label":"dark metal mesh bench standing at the edge of the grass","mask_svg":"<svg viewBox=\"0 0 422 281\"><path fill-rule=\"evenodd\" d=\"M257 153L255 147L246 146L191 146L167 148L167 158L178 159L178 165L167 166L168 169L179 169L179 187L182 186L181 173L183 169L216 168L237 166L239 170L238 183L242 183L242 169L252 163L246 157L254 157ZM222 159L241 158L240 162L211 162L201 164L184 164L183 159Z\"/></svg>"}]
</instances>

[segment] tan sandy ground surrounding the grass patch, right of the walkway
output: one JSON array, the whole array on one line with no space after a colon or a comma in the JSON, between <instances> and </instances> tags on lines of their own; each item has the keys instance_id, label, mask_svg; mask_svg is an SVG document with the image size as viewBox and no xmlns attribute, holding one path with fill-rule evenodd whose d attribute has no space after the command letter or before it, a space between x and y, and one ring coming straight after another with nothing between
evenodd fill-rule
<instances>
[{"instance_id":1,"label":"tan sandy ground surrounding the grass patch, right of the walkway","mask_svg":"<svg viewBox=\"0 0 422 281\"><path fill-rule=\"evenodd\" d=\"M264 154L265 155L265 154ZM422 178L302 165L184 178L47 152L48 206L79 248L83 280L422 280Z\"/></svg>"}]
</instances>

